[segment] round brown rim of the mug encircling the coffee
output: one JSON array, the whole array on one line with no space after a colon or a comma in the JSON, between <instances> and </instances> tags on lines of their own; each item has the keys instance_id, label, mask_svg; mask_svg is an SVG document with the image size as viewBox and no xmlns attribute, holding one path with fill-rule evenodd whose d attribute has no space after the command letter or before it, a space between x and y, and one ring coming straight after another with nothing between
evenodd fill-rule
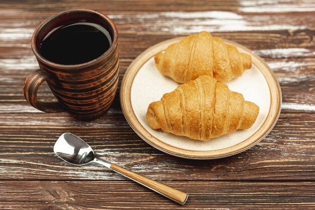
<instances>
[{"instance_id":1,"label":"round brown rim of the mug encircling the coffee","mask_svg":"<svg viewBox=\"0 0 315 210\"><path fill-rule=\"evenodd\" d=\"M42 54L40 53L38 47L37 47L37 37L38 35L41 33L41 30L44 28L44 26L46 26L46 24L48 24L49 22L53 21L53 20L57 20L58 18L60 18L61 16L65 16L71 13L91 13L91 14L96 14L99 17L103 18L110 26L110 28L113 30L113 37L112 37L112 44L109 47L109 49L107 49L102 55L100 55L99 57L90 60L88 62L84 62L84 63L78 63L78 64L60 64L60 63L55 63L52 62L48 59L46 59L45 57L42 56ZM82 69L85 67L91 67L94 64L100 63L102 60L106 60L107 56L111 54L111 52L114 50L114 48L116 47L118 42L118 30L117 27L115 25L115 23L106 15L104 15L103 13L97 12L95 10L89 10L89 9L76 9L76 10L66 10L60 13L57 13L49 18L47 18L46 20L44 20L41 24L39 24L32 36L32 41L31 41L31 46L32 46L32 50L36 56L36 58L44 65L47 66L53 66L54 68L58 68L58 69L62 69L62 70L71 70L71 69Z\"/></svg>"}]
</instances>

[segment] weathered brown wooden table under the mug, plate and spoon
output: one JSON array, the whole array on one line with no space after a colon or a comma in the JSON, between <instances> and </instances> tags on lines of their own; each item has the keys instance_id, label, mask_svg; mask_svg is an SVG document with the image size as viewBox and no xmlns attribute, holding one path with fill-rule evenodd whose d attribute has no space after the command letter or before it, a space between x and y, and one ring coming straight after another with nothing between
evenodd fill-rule
<instances>
[{"instance_id":1,"label":"weathered brown wooden table under the mug, plate and spoon","mask_svg":"<svg viewBox=\"0 0 315 210\"><path fill-rule=\"evenodd\" d=\"M38 68L35 27L68 9L103 12L118 26L120 81L153 44L201 30L262 56L283 104L270 134L250 150L208 161L173 157L146 144L125 120L117 93L103 117L82 122L28 105L25 77ZM314 1L0 2L0 209L315 209ZM54 99L48 86L39 98ZM73 167L53 154L63 132L86 139L109 161L190 194L180 206L97 166Z\"/></svg>"}]
</instances>

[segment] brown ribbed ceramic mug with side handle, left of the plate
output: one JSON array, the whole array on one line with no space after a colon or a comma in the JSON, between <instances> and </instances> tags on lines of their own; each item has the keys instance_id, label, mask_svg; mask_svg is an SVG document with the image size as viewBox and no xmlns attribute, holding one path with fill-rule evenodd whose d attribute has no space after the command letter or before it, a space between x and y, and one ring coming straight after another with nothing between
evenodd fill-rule
<instances>
[{"instance_id":1,"label":"brown ribbed ceramic mug with side handle, left of the plate","mask_svg":"<svg viewBox=\"0 0 315 210\"><path fill-rule=\"evenodd\" d=\"M110 34L112 44L104 54L80 64L59 64L43 57L40 44L53 29L87 21L99 24ZM23 92L25 99L44 112L69 112L78 118L89 119L104 114L114 100L119 74L118 31L106 15L92 10L70 10L58 13L35 30L32 50L40 69L27 76ZM37 91L46 81L58 102L40 102Z\"/></svg>"}]
</instances>

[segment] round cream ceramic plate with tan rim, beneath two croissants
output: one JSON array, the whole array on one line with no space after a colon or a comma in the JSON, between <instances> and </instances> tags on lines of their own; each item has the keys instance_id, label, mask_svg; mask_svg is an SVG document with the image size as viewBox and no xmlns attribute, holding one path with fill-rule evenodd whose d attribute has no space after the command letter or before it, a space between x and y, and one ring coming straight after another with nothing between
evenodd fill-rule
<instances>
[{"instance_id":1,"label":"round cream ceramic plate with tan rim, beneath two croissants","mask_svg":"<svg viewBox=\"0 0 315 210\"><path fill-rule=\"evenodd\" d=\"M163 76L154 65L154 55L180 38L156 44L141 53L128 67L121 86L120 100L125 117L135 132L153 147L166 153L190 159L215 159L234 155L257 144L272 129L281 108L281 91L267 64L252 51L239 44L240 52L252 56L253 65L244 74L228 82L231 91L242 93L246 101L256 103L260 111L254 125L218 138L201 142L160 130L153 130L146 121L148 105L163 94L177 88L178 83Z\"/></svg>"}]
</instances>

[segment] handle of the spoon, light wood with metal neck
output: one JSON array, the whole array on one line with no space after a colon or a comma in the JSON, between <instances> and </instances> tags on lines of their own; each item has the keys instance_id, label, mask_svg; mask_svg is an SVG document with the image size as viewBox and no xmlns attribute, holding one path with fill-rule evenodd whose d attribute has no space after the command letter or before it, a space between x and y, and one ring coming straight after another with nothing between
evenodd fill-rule
<instances>
[{"instance_id":1,"label":"handle of the spoon, light wood with metal neck","mask_svg":"<svg viewBox=\"0 0 315 210\"><path fill-rule=\"evenodd\" d=\"M125 168L122 168L120 166L117 166L115 164L112 164L108 161L104 161L104 163L102 163L104 160L102 159L98 159L97 163L100 163L110 169L112 169L113 171L135 181L138 182L139 184L157 192L160 193L161 195L181 204L184 205L187 198L188 198L188 194L186 194L185 192L182 192L180 190L177 190L175 188L172 188L168 185L162 184L160 182L154 181L152 179L149 179L145 176L142 176L140 174L134 173L132 171L129 171Z\"/></svg>"}]
</instances>

